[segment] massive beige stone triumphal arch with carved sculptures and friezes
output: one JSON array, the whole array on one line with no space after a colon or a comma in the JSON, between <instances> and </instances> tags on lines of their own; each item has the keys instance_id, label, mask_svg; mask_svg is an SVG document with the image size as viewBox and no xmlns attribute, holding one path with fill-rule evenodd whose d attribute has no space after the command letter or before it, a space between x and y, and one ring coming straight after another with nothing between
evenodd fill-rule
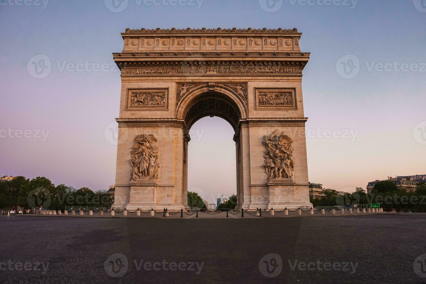
<instances>
[{"instance_id":1,"label":"massive beige stone triumphal arch with carved sculptures and friezes","mask_svg":"<svg viewBox=\"0 0 426 284\"><path fill-rule=\"evenodd\" d=\"M188 209L189 129L204 116L235 131L238 209L311 206L302 100L310 54L296 28L121 35L113 207Z\"/></svg>"}]
</instances>

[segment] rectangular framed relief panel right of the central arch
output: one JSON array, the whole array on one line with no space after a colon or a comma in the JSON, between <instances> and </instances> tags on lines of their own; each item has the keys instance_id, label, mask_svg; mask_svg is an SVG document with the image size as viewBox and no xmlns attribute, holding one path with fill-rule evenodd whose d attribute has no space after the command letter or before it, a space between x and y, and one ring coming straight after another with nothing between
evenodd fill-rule
<instances>
[{"instance_id":1,"label":"rectangular framed relief panel right of the central arch","mask_svg":"<svg viewBox=\"0 0 426 284\"><path fill-rule=\"evenodd\" d=\"M296 110L295 88L254 88L254 108Z\"/></svg>"}]
</instances>

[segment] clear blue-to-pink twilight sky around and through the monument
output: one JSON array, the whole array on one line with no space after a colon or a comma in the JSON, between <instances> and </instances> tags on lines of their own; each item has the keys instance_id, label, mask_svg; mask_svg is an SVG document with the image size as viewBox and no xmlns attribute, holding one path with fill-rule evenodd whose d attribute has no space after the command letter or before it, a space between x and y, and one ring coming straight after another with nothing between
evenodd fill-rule
<instances>
[{"instance_id":1,"label":"clear blue-to-pink twilight sky around and through the monument","mask_svg":"<svg viewBox=\"0 0 426 284\"><path fill-rule=\"evenodd\" d=\"M269 1L124 0L113 12L112 0L0 0L0 174L93 190L114 184L108 129L120 74L111 53L121 51L125 28L143 27L298 28L311 52L302 82L310 182L352 191L391 174L425 174L425 1ZM36 79L28 70L40 54L52 67ZM95 63L107 65L96 71ZM236 193L232 128L207 117L197 129L189 188L210 202Z\"/></svg>"}]
</instances>

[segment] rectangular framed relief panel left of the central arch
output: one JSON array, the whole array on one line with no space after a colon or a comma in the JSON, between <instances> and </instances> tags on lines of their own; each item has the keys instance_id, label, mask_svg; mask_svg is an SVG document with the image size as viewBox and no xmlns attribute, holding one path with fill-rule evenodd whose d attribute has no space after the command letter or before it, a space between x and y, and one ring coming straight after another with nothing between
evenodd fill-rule
<instances>
[{"instance_id":1,"label":"rectangular framed relief panel left of the central arch","mask_svg":"<svg viewBox=\"0 0 426 284\"><path fill-rule=\"evenodd\" d=\"M167 111L169 107L168 88L127 89L127 111Z\"/></svg>"}]
</instances>

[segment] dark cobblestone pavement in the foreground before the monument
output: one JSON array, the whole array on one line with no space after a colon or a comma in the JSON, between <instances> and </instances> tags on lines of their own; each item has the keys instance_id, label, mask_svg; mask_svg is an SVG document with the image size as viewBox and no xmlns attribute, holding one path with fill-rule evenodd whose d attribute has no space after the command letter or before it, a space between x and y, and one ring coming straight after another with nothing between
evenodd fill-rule
<instances>
[{"instance_id":1,"label":"dark cobblestone pavement in the foreground before the monument","mask_svg":"<svg viewBox=\"0 0 426 284\"><path fill-rule=\"evenodd\" d=\"M189 219L0 216L0 283L426 283L425 214Z\"/></svg>"}]
</instances>

